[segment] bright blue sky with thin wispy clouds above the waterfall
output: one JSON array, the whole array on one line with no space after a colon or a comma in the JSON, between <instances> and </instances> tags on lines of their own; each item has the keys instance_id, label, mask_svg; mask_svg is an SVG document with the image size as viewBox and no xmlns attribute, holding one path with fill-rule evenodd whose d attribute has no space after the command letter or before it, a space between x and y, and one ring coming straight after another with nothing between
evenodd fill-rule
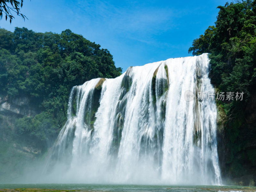
<instances>
[{"instance_id":1,"label":"bright blue sky with thin wispy clouds above the waterfall","mask_svg":"<svg viewBox=\"0 0 256 192\"><path fill-rule=\"evenodd\" d=\"M113 55L117 67L144 65L168 58L191 56L193 39L214 25L218 5L212 1L79 1L24 0L21 12L0 26L13 31L27 27L36 32L65 29L100 44Z\"/></svg>"}]
</instances>

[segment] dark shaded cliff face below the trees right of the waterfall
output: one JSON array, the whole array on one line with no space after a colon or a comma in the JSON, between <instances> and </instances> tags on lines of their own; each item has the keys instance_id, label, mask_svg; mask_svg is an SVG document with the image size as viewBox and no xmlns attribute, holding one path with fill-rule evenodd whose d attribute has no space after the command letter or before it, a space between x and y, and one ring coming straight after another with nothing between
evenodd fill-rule
<instances>
[{"instance_id":1,"label":"dark shaded cliff face below the trees right of the waterfall","mask_svg":"<svg viewBox=\"0 0 256 192\"><path fill-rule=\"evenodd\" d=\"M256 185L256 94L229 117L218 105L218 155L224 184Z\"/></svg>"}]
</instances>

